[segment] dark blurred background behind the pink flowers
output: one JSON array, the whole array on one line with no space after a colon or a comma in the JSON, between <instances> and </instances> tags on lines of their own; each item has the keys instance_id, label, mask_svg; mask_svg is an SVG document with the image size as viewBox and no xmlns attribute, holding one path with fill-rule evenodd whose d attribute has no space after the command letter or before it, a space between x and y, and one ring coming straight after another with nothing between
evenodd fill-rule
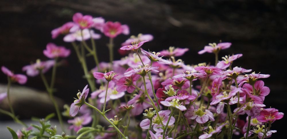
<instances>
[{"instance_id":1,"label":"dark blurred background behind the pink flowers","mask_svg":"<svg viewBox=\"0 0 287 139\"><path fill-rule=\"evenodd\" d=\"M213 54L198 55L197 52L208 43L231 42L230 49L222 50L219 56L242 53L243 57L232 66L271 74L263 79L265 86L271 89L264 104L287 113L284 66L287 60L287 2L284 0L1 0L0 65L24 74L21 70L24 65L36 59L47 60L42 53L47 43L72 49L62 37L53 40L51 30L72 21L76 12L103 17L106 21L119 21L130 27L130 35L115 38L115 52L131 35L152 34L154 40L143 46L146 50L161 51L170 46L189 48L181 57L186 64L214 64ZM108 61L107 43L105 36L96 41L100 61ZM120 58L121 55L115 53L115 59ZM87 84L73 50L64 63L58 69L55 85L55 96L60 105L71 104L77 90ZM92 57L88 58L88 66L90 69L95 66ZM49 75L51 71L46 74ZM1 92L6 91L6 84L7 77L1 72ZM29 77L25 86L14 84L11 92L15 94L12 101L20 119L30 119L32 115L44 117L54 111L39 76ZM5 103L0 107L8 109ZM5 130L9 120L10 117L0 114L0 128ZM286 123L286 117L272 124L273 130L277 130L272 138L284 135L282 123Z\"/></svg>"}]
</instances>

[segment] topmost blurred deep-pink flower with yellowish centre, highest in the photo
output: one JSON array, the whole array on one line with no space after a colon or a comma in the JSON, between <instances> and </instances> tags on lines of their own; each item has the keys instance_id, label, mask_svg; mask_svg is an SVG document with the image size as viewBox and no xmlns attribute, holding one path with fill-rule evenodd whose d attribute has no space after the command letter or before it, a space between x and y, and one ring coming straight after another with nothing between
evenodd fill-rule
<instances>
[{"instance_id":1,"label":"topmost blurred deep-pink flower with yellowish centre, highest in the photo","mask_svg":"<svg viewBox=\"0 0 287 139\"><path fill-rule=\"evenodd\" d=\"M90 28L94 24L93 17L90 15L83 16L82 13L75 13L73 15L73 21L79 26L81 29Z\"/></svg>"}]
</instances>

